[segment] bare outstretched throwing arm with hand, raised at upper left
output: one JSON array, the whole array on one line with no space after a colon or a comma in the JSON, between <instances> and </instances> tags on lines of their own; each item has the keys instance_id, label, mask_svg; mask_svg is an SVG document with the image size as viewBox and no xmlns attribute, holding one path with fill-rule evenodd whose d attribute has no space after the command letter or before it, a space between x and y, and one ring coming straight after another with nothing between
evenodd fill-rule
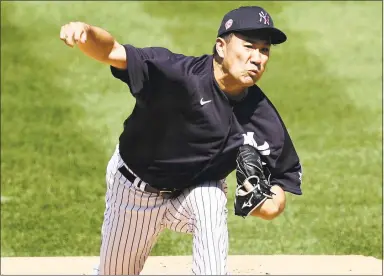
<instances>
[{"instance_id":1,"label":"bare outstretched throwing arm with hand, raised at upper left","mask_svg":"<svg viewBox=\"0 0 384 276\"><path fill-rule=\"evenodd\" d=\"M115 68L127 68L124 46L106 30L83 22L70 22L61 27L60 39L69 47L76 44L87 56Z\"/></svg>"}]
</instances>

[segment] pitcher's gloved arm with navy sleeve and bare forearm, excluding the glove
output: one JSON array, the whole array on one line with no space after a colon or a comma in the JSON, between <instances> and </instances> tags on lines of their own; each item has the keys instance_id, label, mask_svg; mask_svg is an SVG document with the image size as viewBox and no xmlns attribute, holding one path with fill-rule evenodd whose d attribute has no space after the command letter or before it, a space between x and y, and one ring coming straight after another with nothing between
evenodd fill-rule
<instances>
[{"instance_id":1,"label":"pitcher's gloved arm with navy sleeve and bare forearm, excluding the glove","mask_svg":"<svg viewBox=\"0 0 384 276\"><path fill-rule=\"evenodd\" d=\"M302 194L302 168L283 120L264 93L260 91L259 95L258 101L253 101L257 105L252 108L253 114L241 117L240 113L239 120L247 132L244 144L258 151L273 192L271 198L264 200L250 215L271 220L284 211L286 192Z\"/></svg>"}]
</instances>

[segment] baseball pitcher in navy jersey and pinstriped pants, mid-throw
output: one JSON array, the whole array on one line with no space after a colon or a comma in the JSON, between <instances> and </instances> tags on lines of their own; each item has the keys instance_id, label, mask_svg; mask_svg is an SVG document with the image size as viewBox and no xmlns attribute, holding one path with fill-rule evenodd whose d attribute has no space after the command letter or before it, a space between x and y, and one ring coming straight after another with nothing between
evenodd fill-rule
<instances>
[{"instance_id":1,"label":"baseball pitcher in navy jersey and pinstriped pants, mid-throw","mask_svg":"<svg viewBox=\"0 0 384 276\"><path fill-rule=\"evenodd\" d=\"M257 6L228 12L214 52L185 56L120 44L83 22L60 38L110 66L136 100L106 171L99 273L139 274L165 228L193 235L194 274L228 274L227 187L235 215L273 219L301 194L301 165L278 112L255 84L286 41Z\"/></svg>"}]
</instances>

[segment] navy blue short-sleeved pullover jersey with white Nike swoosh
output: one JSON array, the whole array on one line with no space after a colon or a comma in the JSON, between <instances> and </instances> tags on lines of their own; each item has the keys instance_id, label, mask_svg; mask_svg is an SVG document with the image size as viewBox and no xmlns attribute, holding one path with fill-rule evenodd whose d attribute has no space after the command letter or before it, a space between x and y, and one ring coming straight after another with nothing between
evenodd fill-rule
<instances>
[{"instance_id":1,"label":"navy blue short-sleeved pullover jersey with white Nike swoosh","mask_svg":"<svg viewBox=\"0 0 384 276\"><path fill-rule=\"evenodd\" d=\"M301 165L278 112L254 85L230 100L213 75L213 56L124 45L127 69L111 67L136 99L120 155L143 181L176 188L218 180L236 168L239 146L259 151L272 184L301 194Z\"/></svg>"}]
</instances>

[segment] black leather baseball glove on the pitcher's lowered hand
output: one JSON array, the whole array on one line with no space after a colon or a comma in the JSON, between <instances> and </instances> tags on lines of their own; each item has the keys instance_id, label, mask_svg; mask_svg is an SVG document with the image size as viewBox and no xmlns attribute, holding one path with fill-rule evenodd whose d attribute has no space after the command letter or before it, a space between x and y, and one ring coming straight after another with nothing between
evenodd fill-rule
<instances>
[{"instance_id":1,"label":"black leather baseball glove on the pitcher's lowered hand","mask_svg":"<svg viewBox=\"0 0 384 276\"><path fill-rule=\"evenodd\" d=\"M267 198L272 198L269 177L266 179L260 155L250 145L239 148L236 158L235 215L245 218Z\"/></svg>"}]
</instances>

